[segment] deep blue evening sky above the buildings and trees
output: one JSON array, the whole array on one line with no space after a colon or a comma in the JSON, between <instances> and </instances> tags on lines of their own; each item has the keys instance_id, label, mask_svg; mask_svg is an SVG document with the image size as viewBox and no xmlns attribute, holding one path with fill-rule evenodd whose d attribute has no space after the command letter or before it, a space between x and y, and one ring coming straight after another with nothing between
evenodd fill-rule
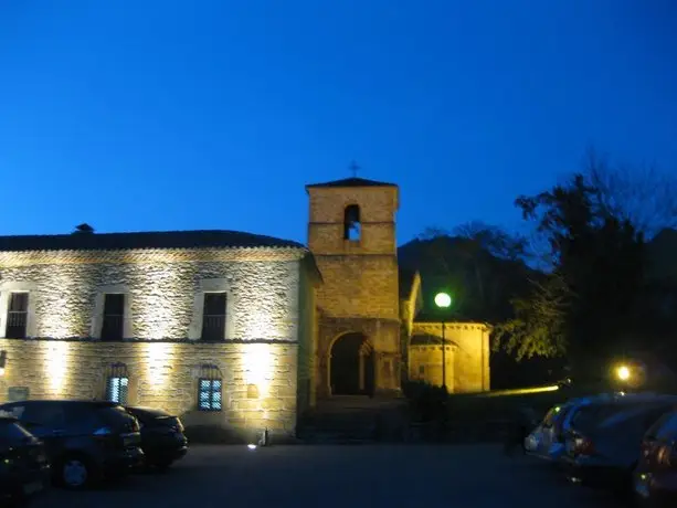
<instances>
[{"instance_id":1,"label":"deep blue evening sky above the buildings and trees","mask_svg":"<svg viewBox=\"0 0 677 508\"><path fill-rule=\"evenodd\" d=\"M671 0L0 0L0 234L305 242L351 159L400 243L518 227L589 146L677 171L675 62Z\"/></svg>"}]
</instances>

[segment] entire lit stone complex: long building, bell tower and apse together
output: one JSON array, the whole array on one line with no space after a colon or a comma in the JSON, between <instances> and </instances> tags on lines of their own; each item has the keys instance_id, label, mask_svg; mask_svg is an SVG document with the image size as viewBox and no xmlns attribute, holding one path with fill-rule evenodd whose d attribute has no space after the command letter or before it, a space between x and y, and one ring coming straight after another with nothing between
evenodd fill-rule
<instances>
[{"instance_id":1,"label":"entire lit stone complex: long building, bell tower and apse together","mask_svg":"<svg viewBox=\"0 0 677 508\"><path fill-rule=\"evenodd\" d=\"M398 187L306 190L307 246L87 226L0 237L0 401L109 399L292 437L318 400L441 384L441 324L416 321L422 282L398 267ZM487 390L488 328L445 330L447 388Z\"/></svg>"}]
</instances>

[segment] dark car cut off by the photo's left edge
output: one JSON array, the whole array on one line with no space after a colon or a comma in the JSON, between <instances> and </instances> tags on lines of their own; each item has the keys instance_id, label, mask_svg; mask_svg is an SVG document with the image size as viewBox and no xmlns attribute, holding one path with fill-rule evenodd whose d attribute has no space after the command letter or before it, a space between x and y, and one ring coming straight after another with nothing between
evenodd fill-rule
<instances>
[{"instance_id":1,"label":"dark car cut off by the photo's left edge","mask_svg":"<svg viewBox=\"0 0 677 508\"><path fill-rule=\"evenodd\" d=\"M15 419L0 416L0 506L38 494L49 483L43 444Z\"/></svg>"}]
</instances>

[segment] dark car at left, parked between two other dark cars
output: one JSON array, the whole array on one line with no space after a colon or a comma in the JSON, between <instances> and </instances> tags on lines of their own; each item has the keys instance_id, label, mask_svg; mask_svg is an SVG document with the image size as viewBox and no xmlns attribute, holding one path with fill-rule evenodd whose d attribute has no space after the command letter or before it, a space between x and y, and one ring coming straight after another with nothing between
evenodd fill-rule
<instances>
[{"instance_id":1,"label":"dark car at left, parked between two other dark cars","mask_svg":"<svg viewBox=\"0 0 677 508\"><path fill-rule=\"evenodd\" d=\"M121 476L144 457L139 424L114 402L22 401L0 405L44 442L52 479L78 489Z\"/></svg>"}]
</instances>

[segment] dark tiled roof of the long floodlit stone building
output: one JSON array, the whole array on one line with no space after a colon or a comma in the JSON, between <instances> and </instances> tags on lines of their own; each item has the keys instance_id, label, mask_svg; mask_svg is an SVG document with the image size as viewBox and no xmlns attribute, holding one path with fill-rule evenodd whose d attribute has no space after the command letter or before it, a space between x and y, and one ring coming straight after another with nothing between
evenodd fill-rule
<instances>
[{"instance_id":1,"label":"dark tiled roof of the long floodlit stone building","mask_svg":"<svg viewBox=\"0 0 677 508\"><path fill-rule=\"evenodd\" d=\"M239 231L150 231L0 236L0 252L116 251L133 248L305 248L298 242Z\"/></svg>"}]
</instances>

